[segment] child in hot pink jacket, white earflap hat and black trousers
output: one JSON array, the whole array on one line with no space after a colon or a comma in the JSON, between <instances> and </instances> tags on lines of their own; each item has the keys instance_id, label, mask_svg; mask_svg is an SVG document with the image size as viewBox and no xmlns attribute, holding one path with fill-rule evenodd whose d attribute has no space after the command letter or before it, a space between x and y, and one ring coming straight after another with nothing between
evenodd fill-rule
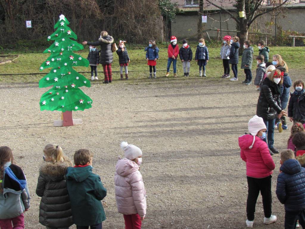
<instances>
[{"instance_id":1,"label":"child in hot pink jacket, white earflap hat and black trousers","mask_svg":"<svg viewBox=\"0 0 305 229\"><path fill-rule=\"evenodd\" d=\"M264 224L276 221L276 216L271 215L271 174L275 168L269 153L266 137L266 125L263 118L254 115L249 120L250 134L239 137L240 157L246 162L248 198L247 198L247 227L253 227L254 212L257 197L261 193L264 206Z\"/></svg>"}]
</instances>

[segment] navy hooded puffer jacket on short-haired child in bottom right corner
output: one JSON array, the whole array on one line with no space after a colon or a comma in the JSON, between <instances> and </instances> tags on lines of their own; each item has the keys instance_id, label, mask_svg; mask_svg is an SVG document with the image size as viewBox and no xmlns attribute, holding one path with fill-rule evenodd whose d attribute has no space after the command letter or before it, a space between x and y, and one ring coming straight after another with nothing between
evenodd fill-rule
<instances>
[{"instance_id":1,"label":"navy hooded puffer jacket on short-haired child in bottom right corner","mask_svg":"<svg viewBox=\"0 0 305 229\"><path fill-rule=\"evenodd\" d=\"M288 159L280 167L276 195L285 211L298 212L305 208L305 168L296 159Z\"/></svg>"}]
</instances>

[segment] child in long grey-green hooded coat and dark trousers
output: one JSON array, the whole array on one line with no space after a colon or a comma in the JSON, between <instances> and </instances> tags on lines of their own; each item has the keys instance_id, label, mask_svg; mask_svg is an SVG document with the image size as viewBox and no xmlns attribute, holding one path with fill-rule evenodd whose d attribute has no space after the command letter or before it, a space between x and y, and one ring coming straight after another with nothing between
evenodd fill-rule
<instances>
[{"instance_id":1,"label":"child in long grey-green hooded coat and dark trousers","mask_svg":"<svg viewBox=\"0 0 305 229\"><path fill-rule=\"evenodd\" d=\"M253 62L253 47L249 41L244 42L244 52L242 53L242 64L241 69L244 70L246 74L246 80L242 83L246 85L252 84L252 62Z\"/></svg>"}]
</instances>

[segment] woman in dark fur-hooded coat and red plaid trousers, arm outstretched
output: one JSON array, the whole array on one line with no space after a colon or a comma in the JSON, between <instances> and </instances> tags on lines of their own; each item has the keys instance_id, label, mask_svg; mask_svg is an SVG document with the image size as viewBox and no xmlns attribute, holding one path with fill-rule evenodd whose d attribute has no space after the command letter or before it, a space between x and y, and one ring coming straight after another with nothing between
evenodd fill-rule
<instances>
[{"instance_id":1,"label":"woman in dark fur-hooded coat and red plaid trousers, arm outstretched","mask_svg":"<svg viewBox=\"0 0 305 229\"><path fill-rule=\"evenodd\" d=\"M113 37L108 35L106 31L101 32L99 41L97 42L83 42L83 45L98 46L101 45L101 52L99 57L99 63L103 65L105 81L103 83L112 82L112 70L111 63L113 61L113 54L111 51L111 44L113 43Z\"/></svg>"}]
</instances>

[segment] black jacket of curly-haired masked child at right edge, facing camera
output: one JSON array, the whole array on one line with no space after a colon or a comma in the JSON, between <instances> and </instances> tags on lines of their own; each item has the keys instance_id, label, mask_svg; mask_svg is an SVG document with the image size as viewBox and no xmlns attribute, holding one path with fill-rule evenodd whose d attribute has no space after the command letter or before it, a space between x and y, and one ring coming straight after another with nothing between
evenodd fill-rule
<instances>
[{"instance_id":1,"label":"black jacket of curly-haired masked child at right edge, facing camera","mask_svg":"<svg viewBox=\"0 0 305 229\"><path fill-rule=\"evenodd\" d=\"M305 122L305 93L297 96L295 93L290 94L288 104L288 117L298 122Z\"/></svg>"}]
</instances>

